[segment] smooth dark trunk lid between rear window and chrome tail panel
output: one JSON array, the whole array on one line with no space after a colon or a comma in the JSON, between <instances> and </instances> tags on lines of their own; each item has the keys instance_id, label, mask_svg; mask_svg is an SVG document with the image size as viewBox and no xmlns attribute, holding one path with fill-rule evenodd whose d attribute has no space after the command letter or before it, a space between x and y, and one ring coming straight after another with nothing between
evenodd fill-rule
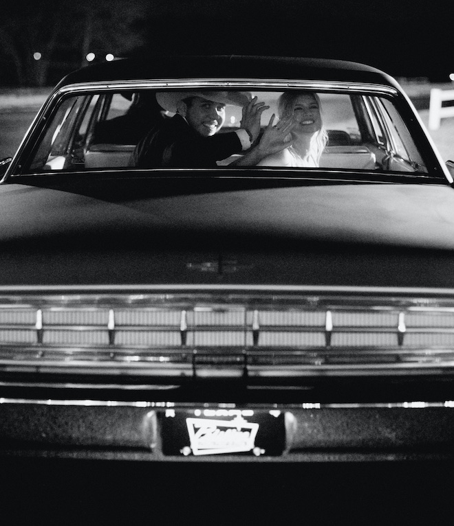
<instances>
[{"instance_id":1,"label":"smooth dark trunk lid between rear window and chrome tail panel","mask_svg":"<svg viewBox=\"0 0 454 526\"><path fill-rule=\"evenodd\" d=\"M3 185L3 284L105 284L106 273L116 284L451 286L444 265L454 243L454 194L447 185L232 191L220 180L202 193L193 181L156 184L164 196L153 196L147 181L135 199L108 183L72 192ZM221 255L243 266L222 275L195 269ZM429 268L398 271L399 258Z\"/></svg>"}]
</instances>

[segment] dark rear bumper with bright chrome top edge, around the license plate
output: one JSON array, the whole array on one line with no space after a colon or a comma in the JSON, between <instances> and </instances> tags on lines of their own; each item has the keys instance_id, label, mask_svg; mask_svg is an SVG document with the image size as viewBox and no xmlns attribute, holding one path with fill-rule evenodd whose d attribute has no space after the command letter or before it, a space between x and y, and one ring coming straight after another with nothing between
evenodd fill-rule
<instances>
[{"instance_id":1,"label":"dark rear bumper with bright chrome top edge, around the license plate","mask_svg":"<svg viewBox=\"0 0 454 526\"><path fill-rule=\"evenodd\" d=\"M449 401L249 404L249 412L285 415L284 450L271 456L165 453L166 413L244 411L235 404L10 398L0 402L1 456L157 462L454 459L454 402ZM189 437L185 441L189 446Z\"/></svg>"}]
</instances>

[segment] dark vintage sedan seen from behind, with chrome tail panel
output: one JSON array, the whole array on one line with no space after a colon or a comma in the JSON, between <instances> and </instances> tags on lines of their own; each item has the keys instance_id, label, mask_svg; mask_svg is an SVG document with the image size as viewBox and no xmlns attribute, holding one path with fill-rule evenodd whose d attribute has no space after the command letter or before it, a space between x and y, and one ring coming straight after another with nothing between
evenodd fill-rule
<instances>
[{"instance_id":1,"label":"dark vintage sedan seen from behind, with chrome tail panel","mask_svg":"<svg viewBox=\"0 0 454 526\"><path fill-rule=\"evenodd\" d=\"M257 95L263 129L283 92L317 93L319 164L137 168L171 117L155 95L175 90ZM241 108L225 111L234 132ZM187 56L69 74L2 161L0 455L451 459L450 170L366 65Z\"/></svg>"}]
</instances>

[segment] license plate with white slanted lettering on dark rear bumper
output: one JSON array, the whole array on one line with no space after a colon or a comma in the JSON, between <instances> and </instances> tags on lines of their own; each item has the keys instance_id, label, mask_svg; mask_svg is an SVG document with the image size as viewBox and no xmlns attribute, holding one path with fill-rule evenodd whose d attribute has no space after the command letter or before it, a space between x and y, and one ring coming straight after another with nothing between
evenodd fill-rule
<instances>
[{"instance_id":1,"label":"license plate with white slanted lettering on dark rear bumper","mask_svg":"<svg viewBox=\"0 0 454 526\"><path fill-rule=\"evenodd\" d=\"M268 455L285 449L282 411L167 409L162 415L164 455Z\"/></svg>"}]
</instances>

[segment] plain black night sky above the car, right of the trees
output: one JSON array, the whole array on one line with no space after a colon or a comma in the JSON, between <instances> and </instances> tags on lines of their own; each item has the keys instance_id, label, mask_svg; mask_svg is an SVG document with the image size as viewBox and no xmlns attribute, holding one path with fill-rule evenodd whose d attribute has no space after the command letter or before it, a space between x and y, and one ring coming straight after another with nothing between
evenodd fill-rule
<instances>
[{"instance_id":1,"label":"plain black night sky above the car, right of the trees","mask_svg":"<svg viewBox=\"0 0 454 526\"><path fill-rule=\"evenodd\" d=\"M453 0L165 0L148 22L152 53L357 60L393 76L448 81Z\"/></svg>"}]
</instances>

